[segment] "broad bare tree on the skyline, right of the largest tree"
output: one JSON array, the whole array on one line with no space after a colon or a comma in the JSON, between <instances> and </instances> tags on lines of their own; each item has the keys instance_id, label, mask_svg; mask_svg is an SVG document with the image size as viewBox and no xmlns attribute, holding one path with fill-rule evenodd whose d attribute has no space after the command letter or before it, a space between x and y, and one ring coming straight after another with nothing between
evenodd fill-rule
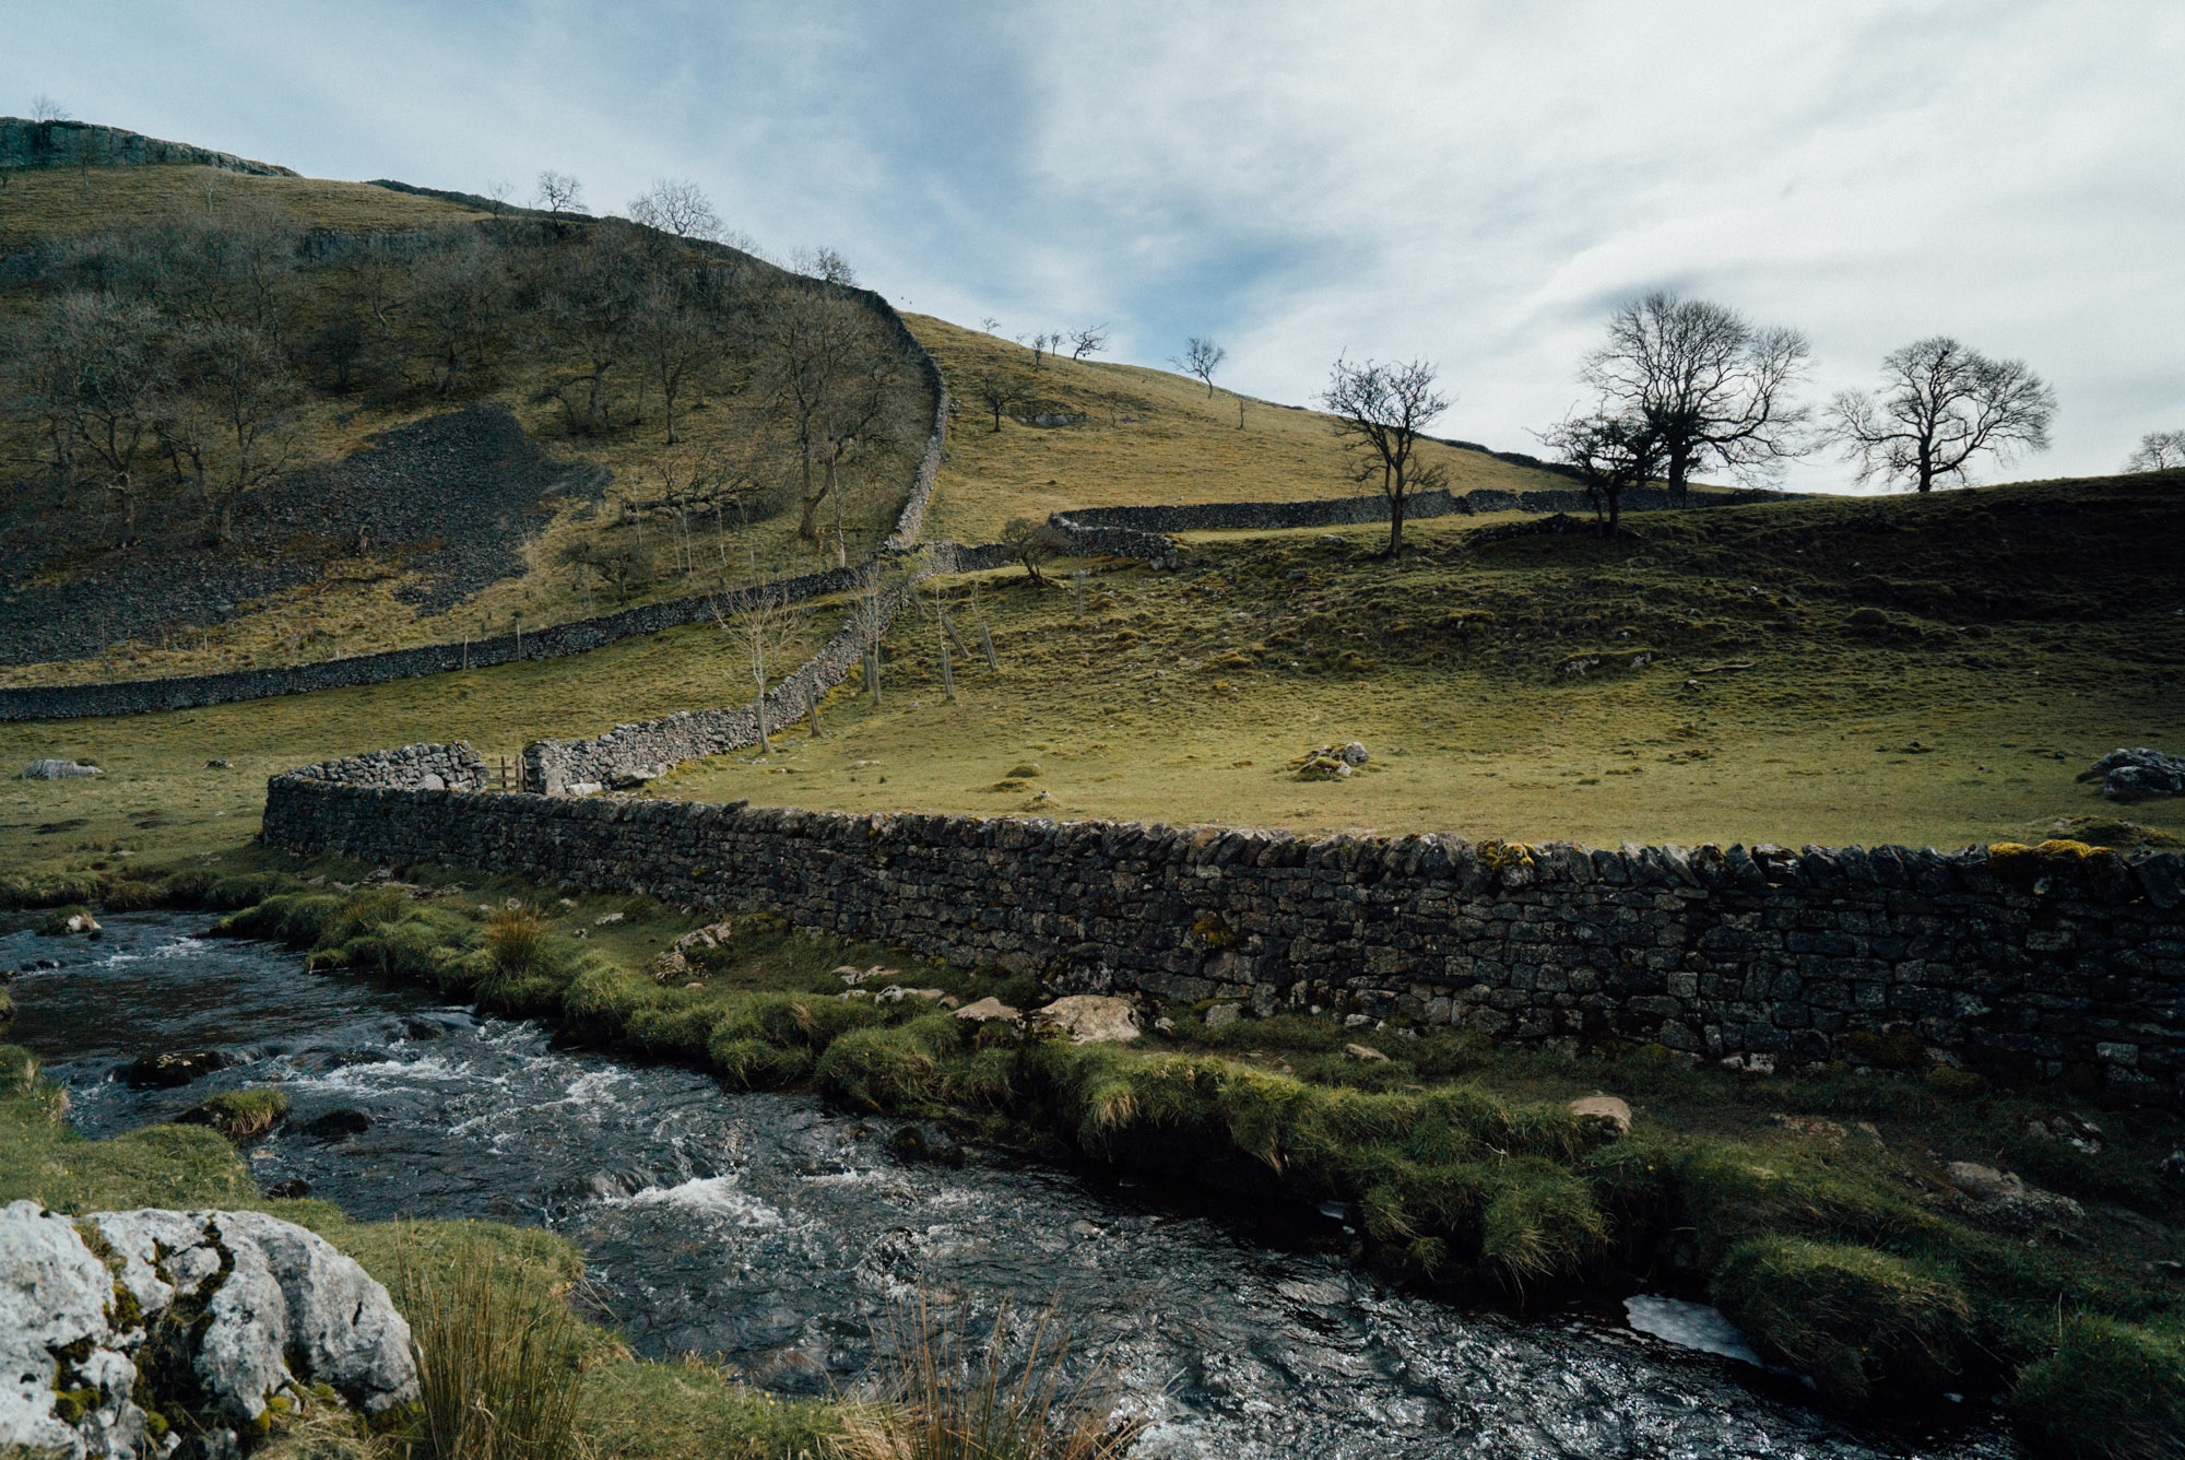
<instances>
[{"instance_id":1,"label":"broad bare tree on the skyline, right of the largest tree","mask_svg":"<svg viewBox=\"0 0 2185 1460\"><path fill-rule=\"evenodd\" d=\"M2047 448L2056 391L2025 361L1991 361L1934 334L1883 356L1881 380L1875 396L1844 391L1829 402L1824 439L1859 463L1859 481L1932 492L1951 476L1966 481L1982 452L2010 461Z\"/></svg>"}]
</instances>

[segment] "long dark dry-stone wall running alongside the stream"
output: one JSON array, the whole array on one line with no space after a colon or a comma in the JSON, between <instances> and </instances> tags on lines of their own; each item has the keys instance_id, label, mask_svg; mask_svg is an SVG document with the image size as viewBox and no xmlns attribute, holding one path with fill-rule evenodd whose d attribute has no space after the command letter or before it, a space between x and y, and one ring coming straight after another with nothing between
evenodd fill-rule
<instances>
[{"instance_id":1,"label":"long dark dry-stone wall running alongside the stream","mask_svg":"<svg viewBox=\"0 0 2185 1460\"><path fill-rule=\"evenodd\" d=\"M1068 988L1521 1043L1857 1060L1875 1047L1857 1036L1910 1029L1975 1069L2087 1073L2185 1108L2176 855L1307 839L463 793L328 769L273 778L267 841L767 907Z\"/></svg>"}]
</instances>

